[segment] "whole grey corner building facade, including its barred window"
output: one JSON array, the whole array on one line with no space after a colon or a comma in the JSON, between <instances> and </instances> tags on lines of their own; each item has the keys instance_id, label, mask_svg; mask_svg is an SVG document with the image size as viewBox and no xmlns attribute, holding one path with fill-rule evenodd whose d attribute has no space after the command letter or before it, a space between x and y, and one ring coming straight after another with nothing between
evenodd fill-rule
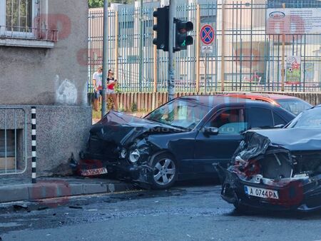
<instances>
[{"instance_id":1,"label":"whole grey corner building facade, including its barred window","mask_svg":"<svg viewBox=\"0 0 321 241\"><path fill-rule=\"evenodd\" d=\"M69 172L91 125L87 48L88 1L0 0L0 175L31 172L31 106L37 173Z\"/></svg>"}]
</instances>

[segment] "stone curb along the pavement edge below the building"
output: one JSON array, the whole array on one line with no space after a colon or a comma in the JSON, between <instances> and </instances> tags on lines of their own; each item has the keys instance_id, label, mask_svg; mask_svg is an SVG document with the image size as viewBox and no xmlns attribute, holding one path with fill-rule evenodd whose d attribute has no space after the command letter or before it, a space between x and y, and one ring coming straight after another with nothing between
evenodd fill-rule
<instances>
[{"instance_id":1,"label":"stone curb along the pavement edge below the building","mask_svg":"<svg viewBox=\"0 0 321 241\"><path fill-rule=\"evenodd\" d=\"M135 190L128 183L68 183L65 180L40 180L36 184L10 185L0 188L0 202L62 198Z\"/></svg>"}]
</instances>

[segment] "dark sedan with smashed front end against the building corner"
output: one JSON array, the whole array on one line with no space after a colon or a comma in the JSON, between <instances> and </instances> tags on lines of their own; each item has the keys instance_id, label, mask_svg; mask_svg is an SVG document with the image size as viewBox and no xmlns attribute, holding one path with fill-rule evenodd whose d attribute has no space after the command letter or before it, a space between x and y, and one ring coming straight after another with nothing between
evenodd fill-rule
<instances>
[{"instance_id":1,"label":"dark sedan with smashed front end against the building corner","mask_svg":"<svg viewBox=\"0 0 321 241\"><path fill-rule=\"evenodd\" d=\"M90 131L81 175L116 175L142 187L213 178L213 162L229 163L245 130L285 125L295 116L269 103L186 96L145 118L110 111Z\"/></svg>"}]
</instances>

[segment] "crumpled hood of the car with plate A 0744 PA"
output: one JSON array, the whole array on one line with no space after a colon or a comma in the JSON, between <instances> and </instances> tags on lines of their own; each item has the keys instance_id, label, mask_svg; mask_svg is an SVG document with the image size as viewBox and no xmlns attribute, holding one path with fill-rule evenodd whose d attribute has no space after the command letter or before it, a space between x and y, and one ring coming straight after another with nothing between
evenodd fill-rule
<instances>
[{"instance_id":1,"label":"crumpled hood of the car with plate A 0744 PA","mask_svg":"<svg viewBox=\"0 0 321 241\"><path fill-rule=\"evenodd\" d=\"M248 133L253 130L248 131ZM270 139L272 145L280 145L287 150L321 150L320 128L283 128L255 130L255 133ZM245 134L247 135L247 134Z\"/></svg>"}]
</instances>

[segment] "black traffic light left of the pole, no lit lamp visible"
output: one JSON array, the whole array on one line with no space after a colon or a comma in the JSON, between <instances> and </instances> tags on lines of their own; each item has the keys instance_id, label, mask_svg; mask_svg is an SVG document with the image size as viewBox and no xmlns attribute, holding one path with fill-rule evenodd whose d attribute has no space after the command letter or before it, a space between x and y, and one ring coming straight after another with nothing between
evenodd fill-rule
<instances>
[{"instance_id":1,"label":"black traffic light left of the pole, no lit lamp visible","mask_svg":"<svg viewBox=\"0 0 321 241\"><path fill-rule=\"evenodd\" d=\"M168 51L168 31L169 31L169 8L165 6L154 11L153 16L157 18L157 24L153 26L153 31L157 32L157 38L153 39L153 44L157 49Z\"/></svg>"}]
</instances>

